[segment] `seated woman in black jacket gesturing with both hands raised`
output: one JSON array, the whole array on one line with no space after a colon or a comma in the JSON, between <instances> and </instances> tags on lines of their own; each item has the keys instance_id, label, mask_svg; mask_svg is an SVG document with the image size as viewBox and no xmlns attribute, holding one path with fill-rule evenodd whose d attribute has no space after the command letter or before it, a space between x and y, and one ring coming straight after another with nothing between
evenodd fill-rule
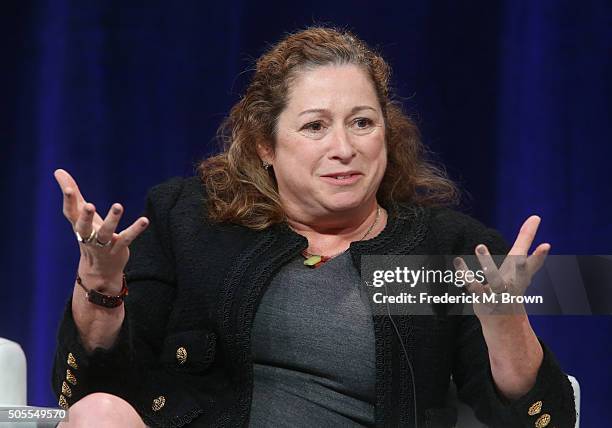
<instances>
[{"instance_id":1,"label":"seated woman in black jacket gesturing with both hands raised","mask_svg":"<svg viewBox=\"0 0 612 428\"><path fill-rule=\"evenodd\" d=\"M450 427L452 374L492 426L573 426L571 386L525 315L392 319L360 299L365 254L476 248L493 291L516 280L516 258L491 265L499 234L443 207L455 187L388 82L347 32L287 36L221 128L225 151L152 189L121 233L119 204L103 220L56 172L81 248L53 378L71 424ZM510 249L523 287L550 249L527 257L538 223Z\"/></svg>"}]
</instances>

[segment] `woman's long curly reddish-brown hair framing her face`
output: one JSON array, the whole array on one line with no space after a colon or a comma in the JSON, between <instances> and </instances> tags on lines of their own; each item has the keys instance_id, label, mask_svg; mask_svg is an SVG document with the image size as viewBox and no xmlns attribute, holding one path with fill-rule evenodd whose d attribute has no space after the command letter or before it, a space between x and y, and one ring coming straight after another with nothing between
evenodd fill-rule
<instances>
[{"instance_id":1,"label":"woman's long curly reddish-brown hair framing her face","mask_svg":"<svg viewBox=\"0 0 612 428\"><path fill-rule=\"evenodd\" d=\"M223 151L198 166L211 221L258 230L285 221L274 172L262 168L257 146L274 150L278 117L299 72L344 64L363 68L382 108L388 159L379 203L393 208L399 202L432 206L458 201L457 187L427 159L416 124L392 99L385 60L349 31L310 27L288 34L257 60L246 93L217 132Z\"/></svg>"}]
</instances>

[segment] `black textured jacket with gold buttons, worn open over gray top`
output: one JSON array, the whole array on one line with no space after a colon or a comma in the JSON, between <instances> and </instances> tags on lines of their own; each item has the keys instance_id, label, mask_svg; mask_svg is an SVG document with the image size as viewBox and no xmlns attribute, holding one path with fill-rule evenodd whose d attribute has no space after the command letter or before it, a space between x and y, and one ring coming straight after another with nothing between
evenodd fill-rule
<instances>
[{"instance_id":1,"label":"black textured jacket with gold buttons, worn open over gray top","mask_svg":"<svg viewBox=\"0 0 612 428\"><path fill-rule=\"evenodd\" d=\"M112 349L85 354L68 302L53 373L62 404L105 391L154 427L248 425L257 306L275 272L307 241L285 224L261 232L211 224L204 201L195 177L150 191L151 224L132 245L126 320ZM494 254L507 251L497 232L466 215L403 205L390 211L379 236L352 243L350 253L359 269L363 254L473 254L478 243ZM535 386L509 403L495 390L476 317L395 321L415 379L389 318L374 316L377 427L414 426L413 383L418 426L452 426L455 410L444 403L451 374L459 396L490 426L533 427L544 413L550 426L574 426L571 385L546 346ZM540 400L541 411L529 415Z\"/></svg>"}]
</instances>

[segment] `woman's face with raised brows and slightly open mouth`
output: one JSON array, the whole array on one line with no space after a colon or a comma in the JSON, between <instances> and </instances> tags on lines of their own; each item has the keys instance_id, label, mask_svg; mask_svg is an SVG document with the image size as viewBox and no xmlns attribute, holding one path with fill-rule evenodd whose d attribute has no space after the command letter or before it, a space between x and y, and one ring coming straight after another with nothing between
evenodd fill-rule
<instances>
[{"instance_id":1,"label":"woman's face with raised brows and slightly open mouth","mask_svg":"<svg viewBox=\"0 0 612 428\"><path fill-rule=\"evenodd\" d=\"M382 110L366 73L355 65L301 72L267 160L288 213L309 218L374 206L387 151Z\"/></svg>"}]
</instances>

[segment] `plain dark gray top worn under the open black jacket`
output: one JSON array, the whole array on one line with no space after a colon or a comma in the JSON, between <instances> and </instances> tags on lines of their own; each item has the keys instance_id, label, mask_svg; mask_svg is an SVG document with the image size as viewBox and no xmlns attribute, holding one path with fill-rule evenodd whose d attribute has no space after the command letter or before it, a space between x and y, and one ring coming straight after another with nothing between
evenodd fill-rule
<instances>
[{"instance_id":1,"label":"plain dark gray top worn under the open black jacket","mask_svg":"<svg viewBox=\"0 0 612 428\"><path fill-rule=\"evenodd\" d=\"M252 330L251 427L373 426L375 343L360 276L345 252L273 278Z\"/></svg>"}]
</instances>

